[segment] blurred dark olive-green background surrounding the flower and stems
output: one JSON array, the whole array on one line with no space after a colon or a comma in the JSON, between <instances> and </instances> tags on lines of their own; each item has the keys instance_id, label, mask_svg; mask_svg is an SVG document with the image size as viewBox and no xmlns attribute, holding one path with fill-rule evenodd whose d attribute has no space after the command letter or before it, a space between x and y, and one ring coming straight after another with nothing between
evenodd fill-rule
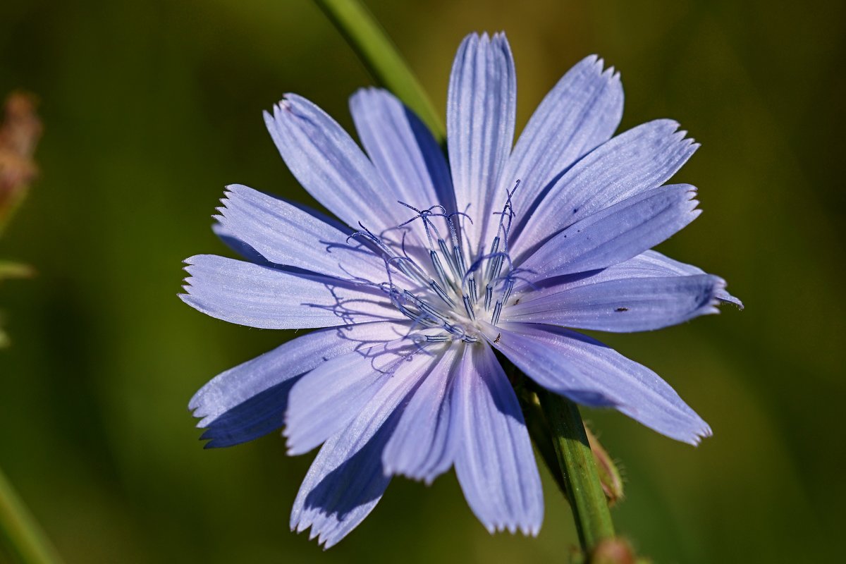
<instances>
[{"instance_id":1,"label":"blurred dark olive-green background surrounding the flower and stems","mask_svg":"<svg viewBox=\"0 0 846 564\"><path fill-rule=\"evenodd\" d=\"M706 212L661 249L725 277L746 309L605 339L714 429L692 448L587 413L624 467L618 530L656 562L842 554L843 3L369 5L438 108L461 38L506 30L519 127L597 52L623 74L621 129L675 118L702 143L678 179ZM395 479L322 552L288 532L311 455L286 457L275 434L197 440L193 392L293 333L188 308L181 260L226 252L209 227L227 183L310 203L263 109L295 91L349 126L347 97L369 84L307 0L3 0L0 95L40 96L46 132L41 179L0 242L38 271L0 287L0 466L67 561L552 562L576 543L545 470L538 539L491 537L450 473Z\"/></svg>"}]
</instances>

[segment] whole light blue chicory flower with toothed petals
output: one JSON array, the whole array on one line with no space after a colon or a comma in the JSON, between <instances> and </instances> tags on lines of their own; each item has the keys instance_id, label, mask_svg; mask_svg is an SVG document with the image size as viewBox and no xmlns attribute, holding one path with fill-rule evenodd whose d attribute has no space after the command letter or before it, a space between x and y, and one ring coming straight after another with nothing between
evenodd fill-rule
<instances>
[{"instance_id":1,"label":"whole light blue chicory flower with toothed petals","mask_svg":"<svg viewBox=\"0 0 846 564\"><path fill-rule=\"evenodd\" d=\"M648 331L739 302L721 278L650 250L692 222L665 185L698 145L667 119L613 137L619 75L587 57L514 142L504 35L468 36L448 93L448 161L384 90L350 100L365 151L301 96L266 114L284 161L336 219L229 186L217 233L247 260L186 262L195 309L244 326L316 328L218 375L190 402L207 446L284 425L321 446L291 527L331 546L391 477L454 467L491 531L536 534L541 480L494 351L538 385L696 444L704 420L653 371L574 329Z\"/></svg>"}]
</instances>

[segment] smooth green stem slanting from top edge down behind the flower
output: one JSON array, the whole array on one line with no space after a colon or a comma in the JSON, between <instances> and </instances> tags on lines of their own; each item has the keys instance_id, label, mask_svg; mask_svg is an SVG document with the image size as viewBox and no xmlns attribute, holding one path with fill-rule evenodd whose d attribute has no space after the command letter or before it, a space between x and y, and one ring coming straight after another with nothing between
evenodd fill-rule
<instances>
[{"instance_id":1,"label":"smooth green stem slanting from top edge down behind the flower","mask_svg":"<svg viewBox=\"0 0 846 564\"><path fill-rule=\"evenodd\" d=\"M358 0L314 0L359 56L376 83L393 92L443 143L446 131L426 91L393 41Z\"/></svg>"}]
</instances>

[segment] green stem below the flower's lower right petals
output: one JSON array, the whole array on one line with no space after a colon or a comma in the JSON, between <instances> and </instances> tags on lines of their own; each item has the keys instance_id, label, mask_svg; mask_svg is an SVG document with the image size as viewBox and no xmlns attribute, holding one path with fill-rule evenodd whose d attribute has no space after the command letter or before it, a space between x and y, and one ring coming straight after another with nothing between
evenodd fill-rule
<instances>
[{"instance_id":1,"label":"green stem below the flower's lower right petals","mask_svg":"<svg viewBox=\"0 0 846 564\"><path fill-rule=\"evenodd\" d=\"M582 548L586 554L591 554L602 540L613 538L614 525L585 434L585 424L579 408L566 397L547 391L538 392L538 396L552 430L552 442L564 474Z\"/></svg>"}]
</instances>

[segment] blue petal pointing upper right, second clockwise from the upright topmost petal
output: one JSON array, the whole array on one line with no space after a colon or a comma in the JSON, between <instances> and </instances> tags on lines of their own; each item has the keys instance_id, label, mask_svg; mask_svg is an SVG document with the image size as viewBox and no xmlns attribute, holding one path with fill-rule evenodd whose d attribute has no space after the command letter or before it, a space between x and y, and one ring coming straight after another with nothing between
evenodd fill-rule
<instances>
[{"instance_id":1,"label":"blue petal pointing upper right, second clockwise from the upright topmost petal","mask_svg":"<svg viewBox=\"0 0 846 564\"><path fill-rule=\"evenodd\" d=\"M670 119L644 123L576 162L537 205L525 229L514 233L514 255L528 255L580 219L665 183L699 147L677 129Z\"/></svg>"}]
</instances>

